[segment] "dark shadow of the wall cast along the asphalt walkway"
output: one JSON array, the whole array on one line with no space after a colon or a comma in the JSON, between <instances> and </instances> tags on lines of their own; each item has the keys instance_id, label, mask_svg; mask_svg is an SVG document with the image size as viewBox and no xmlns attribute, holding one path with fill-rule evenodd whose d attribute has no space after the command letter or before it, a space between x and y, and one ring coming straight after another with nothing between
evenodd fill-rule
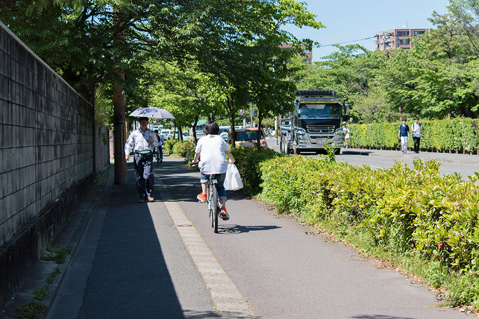
<instances>
[{"instance_id":1,"label":"dark shadow of the wall cast along the asphalt walkway","mask_svg":"<svg viewBox=\"0 0 479 319\"><path fill-rule=\"evenodd\" d=\"M129 171L128 184L112 191L79 319L192 317L179 304L148 205L138 200Z\"/></svg>"}]
</instances>

